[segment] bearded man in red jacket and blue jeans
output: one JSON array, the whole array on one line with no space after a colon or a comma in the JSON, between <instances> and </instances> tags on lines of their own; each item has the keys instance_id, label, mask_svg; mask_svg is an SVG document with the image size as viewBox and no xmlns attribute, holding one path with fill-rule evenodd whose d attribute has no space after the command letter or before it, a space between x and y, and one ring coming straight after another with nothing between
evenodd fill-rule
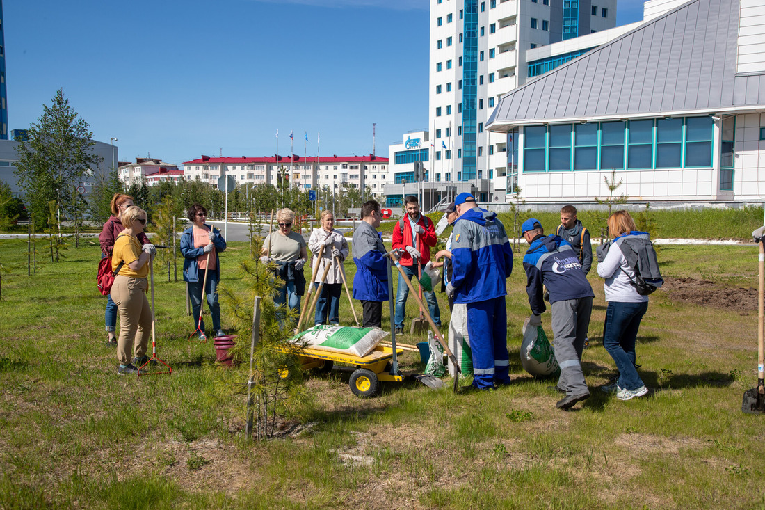
<instances>
[{"instance_id":1,"label":"bearded man in red jacket and blue jeans","mask_svg":"<svg viewBox=\"0 0 765 510\"><path fill-rule=\"evenodd\" d=\"M406 214L393 227L393 249L401 248L401 267L412 280L412 276L418 276L418 265L425 271L425 264L430 260L430 249L435 246L435 228L433 221L423 214L420 214L420 205L417 197L409 195L404 205ZM428 302L431 318L436 325L441 325L441 312L438 310L438 301L435 293L423 291L425 301ZM399 287L396 293L396 317L394 325L396 333L404 332L404 315L406 298L409 296L409 287L399 273Z\"/></svg>"}]
</instances>

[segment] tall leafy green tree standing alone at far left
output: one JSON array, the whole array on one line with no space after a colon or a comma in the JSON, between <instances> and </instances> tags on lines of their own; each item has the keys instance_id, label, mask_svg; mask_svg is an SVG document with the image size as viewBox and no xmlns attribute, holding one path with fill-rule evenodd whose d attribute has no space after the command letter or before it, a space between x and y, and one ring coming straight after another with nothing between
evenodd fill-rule
<instances>
[{"instance_id":1,"label":"tall leafy green tree standing alone at far left","mask_svg":"<svg viewBox=\"0 0 765 510\"><path fill-rule=\"evenodd\" d=\"M64 212L71 211L78 221L80 211L77 183L98 165L99 156L91 152L93 132L85 119L78 118L69 100L59 89L50 106L28 130L28 141L19 140L15 175L35 221L44 227L50 201Z\"/></svg>"}]
</instances>

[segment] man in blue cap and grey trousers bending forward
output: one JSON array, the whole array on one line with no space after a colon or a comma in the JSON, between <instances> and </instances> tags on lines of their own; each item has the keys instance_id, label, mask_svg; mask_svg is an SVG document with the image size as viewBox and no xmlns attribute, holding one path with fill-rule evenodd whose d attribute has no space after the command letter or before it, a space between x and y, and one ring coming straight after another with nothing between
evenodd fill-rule
<instances>
[{"instance_id":1,"label":"man in blue cap and grey trousers bending forward","mask_svg":"<svg viewBox=\"0 0 765 510\"><path fill-rule=\"evenodd\" d=\"M590 397L581 371L581 351L590 326L594 293L571 244L560 236L545 237L542 224L535 218L524 221L521 232L530 245L523 257L526 293L533 314L529 326L542 324L541 315L547 308L546 287L552 306L555 360L561 368L557 389L566 394L555 407L566 410Z\"/></svg>"}]
</instances>

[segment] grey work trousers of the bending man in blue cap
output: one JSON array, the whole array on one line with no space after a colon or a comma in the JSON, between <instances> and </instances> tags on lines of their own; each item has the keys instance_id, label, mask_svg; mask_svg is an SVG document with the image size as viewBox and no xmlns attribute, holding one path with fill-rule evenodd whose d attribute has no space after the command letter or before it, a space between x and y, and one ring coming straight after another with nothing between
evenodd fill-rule
<instances>
[{"instance_id":1,"label":"grey work trousers of the bending man in blue cap","mask_svg":"<svg viewBox=\"0 0 765 510\"><path fill-rule=\"evenodd\" d=\"M592 298L565 299L552 303L552 335L555 359L561 368L558 387L567 395L589 393L581 370L581 352L590 327Z\"/></svg>"}]
</instances>

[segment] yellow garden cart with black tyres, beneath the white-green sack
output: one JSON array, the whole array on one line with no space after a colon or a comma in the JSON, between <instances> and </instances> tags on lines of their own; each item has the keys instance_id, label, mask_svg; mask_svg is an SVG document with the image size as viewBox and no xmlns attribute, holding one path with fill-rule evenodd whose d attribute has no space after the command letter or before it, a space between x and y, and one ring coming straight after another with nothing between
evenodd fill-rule
<instances>
[{"instance_id":1,"label":"yellow garden cart with black tyres, beneath the white-green sack","mask_svg":"<svg viewBox=\"0 0 765 510\"><path fill-rule=\"evenodd\" d=\"M403 354L403 349L396 349L397 355ZM389 362L393 358L393 348L378 345L374 351L362 358L340 352L324 351L315 348L303 348L298 351L298 364L301 370L315 368L320 372L329 372L334 364L344 363L356 369L350 374L350 391L356 397L372 397L380 390L382 382L402 382L404 376L400 373L391 374ZM283 377L288 377L285 369Z\"/></svg>"}]
</instances>

